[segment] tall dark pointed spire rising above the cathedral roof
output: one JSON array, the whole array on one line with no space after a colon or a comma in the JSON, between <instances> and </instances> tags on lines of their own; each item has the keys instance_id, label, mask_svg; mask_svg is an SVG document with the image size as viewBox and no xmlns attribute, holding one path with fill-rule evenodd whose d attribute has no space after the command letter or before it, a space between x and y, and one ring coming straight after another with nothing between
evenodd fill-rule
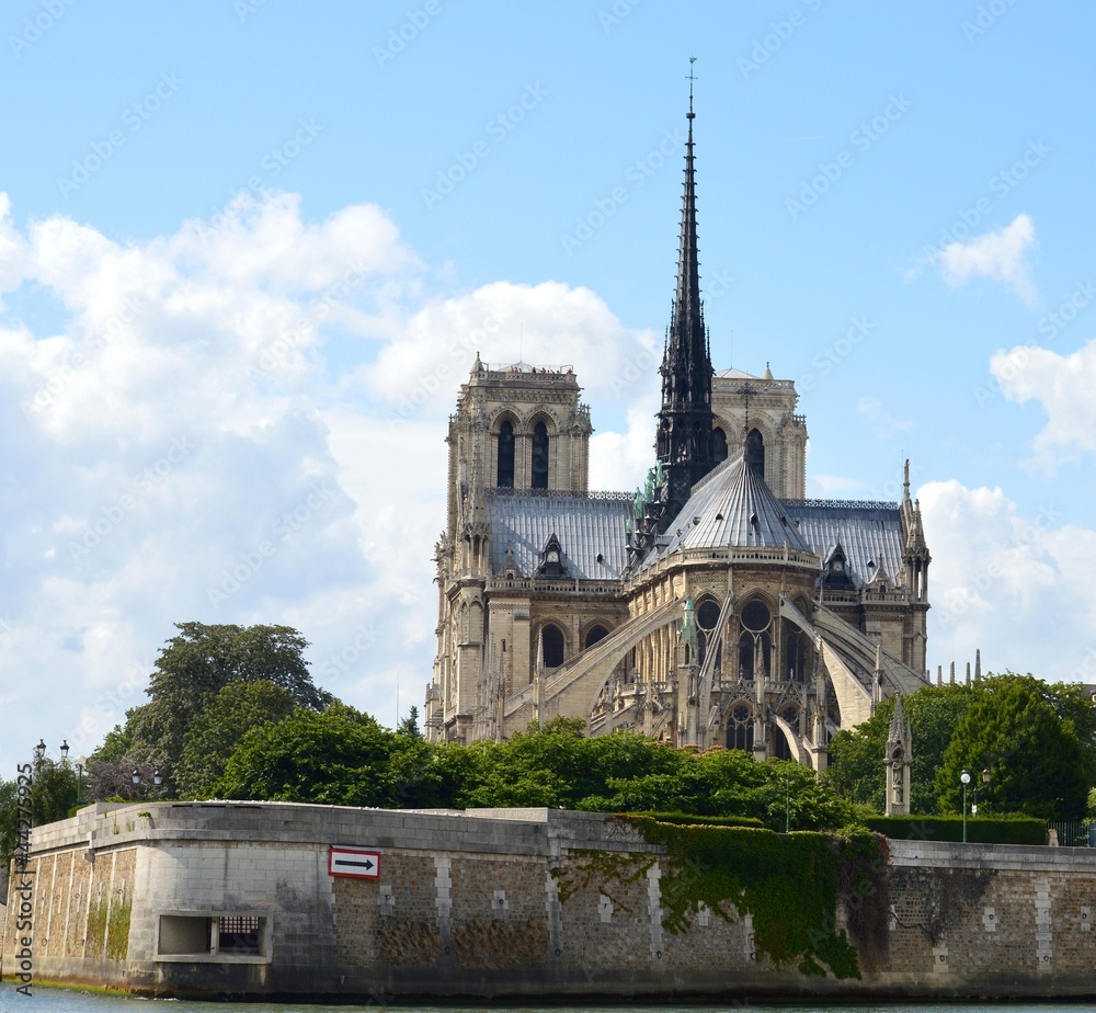
<instances>
[{"instance_id":1,"label":"tall dark pointed spire rising above the cathedral roof","mask_svg":"<svg viewBox=\"0 0 1096 1013\"><path fill-rule=\"evenodd\" d=\"M662 357L662 410L657 449L666 471L665 523L688 499L689 489L712 466L711 356L700 301L700 263L696 238L696 173L693 155L693 62L689 57L688 137L685 190L677 248L677 286Z\"/></svg>"}]
</instances>

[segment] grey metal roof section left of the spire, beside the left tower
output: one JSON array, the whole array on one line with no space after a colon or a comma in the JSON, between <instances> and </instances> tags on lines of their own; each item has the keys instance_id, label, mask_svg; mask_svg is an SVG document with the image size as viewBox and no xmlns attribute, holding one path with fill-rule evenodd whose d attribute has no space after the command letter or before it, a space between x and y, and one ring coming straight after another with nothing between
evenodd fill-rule
<instances>
[{"instance_id":1,"label":"grey metal roof section left of the spire, beside the left tower","mask_svg":"<svg viewBox=\"0 0 1096 1013\"><path fill-rule=\"evenodd\" d=\"M627 492L509 492L487 496L491 525L491 572L502 573L512 549L521 577L532 577L552 534L568 574L579 580L616 580L627 564L625 525L632 515ZM598 554L602 561L597 561Z\"/></svg>"}]
</instances>

